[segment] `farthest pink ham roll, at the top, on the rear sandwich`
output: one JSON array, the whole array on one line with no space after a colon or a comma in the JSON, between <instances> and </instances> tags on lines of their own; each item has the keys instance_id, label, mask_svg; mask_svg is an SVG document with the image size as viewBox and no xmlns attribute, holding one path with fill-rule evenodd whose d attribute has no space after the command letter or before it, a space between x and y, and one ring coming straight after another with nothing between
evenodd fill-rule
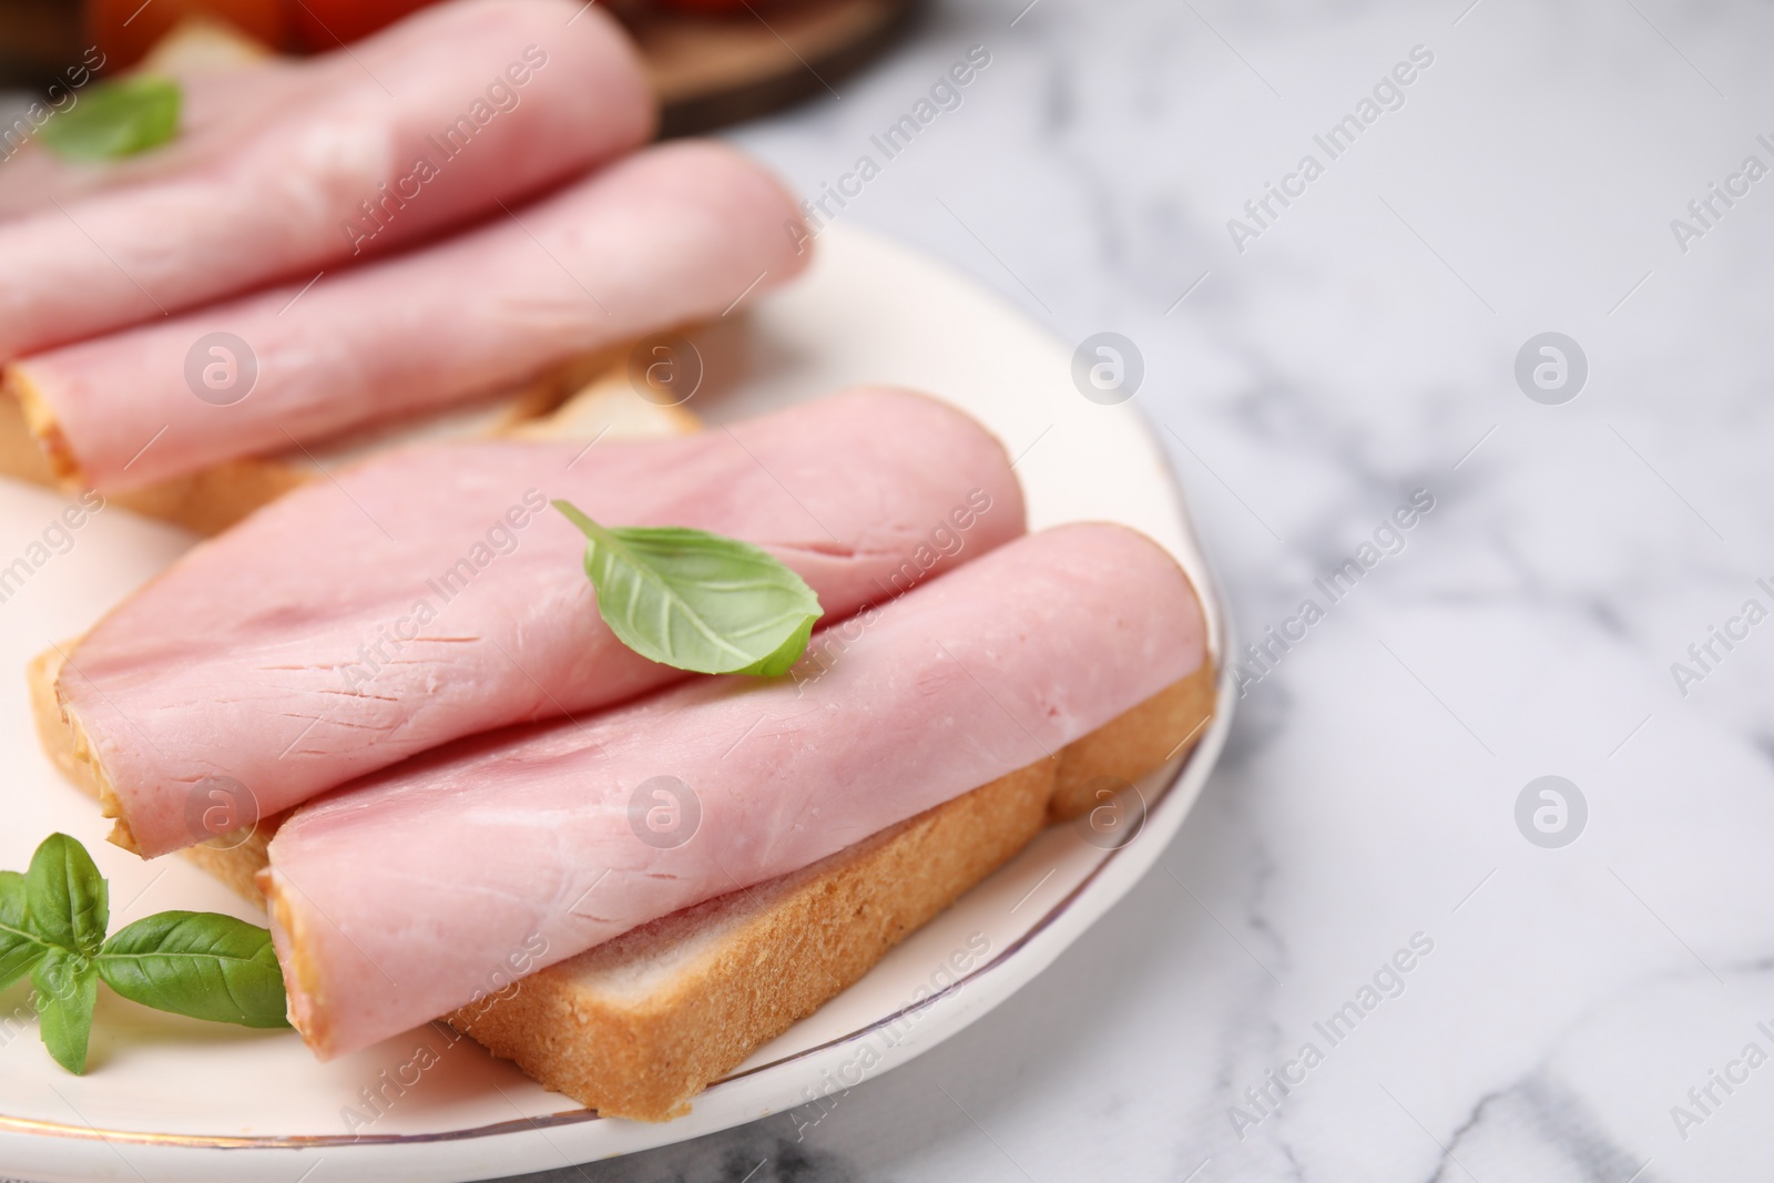
<instances>
[{"instance_id":1,"label":"farthest pink ham roll, at the top, on the rear sandwich","mask_svg":"<svg viewBox=\"0 0 1774 1183\"><path fill-rule=\"evenodd\" d=\"M138 181L0 222L0 360L497 213L655 122L626 35L569 0L447 4L291 69L275 117L188 168L126 161Z\"/></svg>"}]
</instances>

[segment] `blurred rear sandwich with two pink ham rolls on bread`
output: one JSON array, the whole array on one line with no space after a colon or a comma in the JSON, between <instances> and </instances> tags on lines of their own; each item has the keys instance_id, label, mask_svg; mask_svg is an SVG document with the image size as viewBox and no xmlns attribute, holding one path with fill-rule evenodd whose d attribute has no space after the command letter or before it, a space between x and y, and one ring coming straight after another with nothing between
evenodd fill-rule
<instances>
[{"instance_id":1,"label":"blurred rear sandwich with two pink ham rolls on bread","mask_svg":"<svg viewBox=\"0 0 1774 1183\"><path fill-rule=\"evenodd\" d=\"M756 163L630 154L655 101L601 11L472 0L296 62L225 44L144 64L181 94L154 151L5 161L0 474L215 534L369 450L532 422L804 266ZM648 419L694 390L656 369Z\"/></svg>"}]
</instances>

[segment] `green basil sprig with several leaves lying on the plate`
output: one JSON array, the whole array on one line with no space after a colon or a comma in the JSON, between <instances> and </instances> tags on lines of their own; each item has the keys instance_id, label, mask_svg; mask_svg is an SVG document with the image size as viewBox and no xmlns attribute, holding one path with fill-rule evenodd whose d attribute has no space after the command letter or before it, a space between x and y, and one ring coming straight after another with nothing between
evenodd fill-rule
<instances>
[{"instance_id":1,"label":"green basil sprig with several leaves lying on the plate","mask_svg":"<svg viewBox=\"0 0 1774 1183\"><path fill-rule=\"evenodd\" d=\"M271 935L218 912L161 912L108 940L110 885L76 839L51 834L25 874L0 871L0 990L30 974L43 1045L87 1069L99 981L142 1006L241 1027L287 1027Z\"/></svg>"}]
</instances>

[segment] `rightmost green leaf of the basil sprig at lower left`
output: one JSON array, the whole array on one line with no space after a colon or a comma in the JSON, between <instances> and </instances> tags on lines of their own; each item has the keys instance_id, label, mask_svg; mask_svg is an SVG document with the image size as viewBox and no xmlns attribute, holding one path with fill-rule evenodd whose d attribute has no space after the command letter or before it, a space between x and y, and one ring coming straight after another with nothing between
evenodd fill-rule
<instances>
[{"instance_id":1,"label":"rightmost green leaf of the basil sprig at lower left","mask_svg":"<svg viewBox=\"0 0 1774 1183\"><path fill-rule=\"evenodd\" d=\"M142 1006L241 1027L287 1027L271 935L218 912L160 912L98 956L105 984Z\"/></svg>"}]
</instances>

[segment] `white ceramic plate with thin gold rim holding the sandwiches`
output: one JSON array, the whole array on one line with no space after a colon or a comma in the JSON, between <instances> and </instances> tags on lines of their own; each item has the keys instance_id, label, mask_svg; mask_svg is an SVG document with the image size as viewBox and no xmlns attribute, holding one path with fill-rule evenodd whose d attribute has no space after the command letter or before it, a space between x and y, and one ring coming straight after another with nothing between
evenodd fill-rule
<instances>
[{"instance_id":1,"label":"white ceramic plate with thin gold rim holding the sandwiches","mask_svg":"<svg viewBox=\"0 0 1774 1183\"><path fill-rule=\"evenodd\" d=\"M889 381L962 406L1017 456L1031 529L1073 520L1134 525L1167 546L1208 599L1215 658L1229 642L1164 450L1134 403L1100 406L1071 385L1071 353L997 296L903 247L848 227L820 239L811 273L765 300L743 332L743 378L692 408L711 420ZM0 568L25 555L62 509L0 481ZM144 864L103 841L92 802L37 754L18 670L50 642L83 631L188 537L110 509L69 536L0 603L0 736L14 754L0 780L0 867L23 869L51 830L87 842L112 880L114 926L163 908L255 921L183 860ZM66 553L53 550L66 548ZM41 555L41 552L35 552ZM1221 662L1224 665L1224 662ZM435 1027L318 1064L291 1032L247 1032L145 1011L101 991L90 1069L71 1077L37 1039L28 990L0 991L0 1174L64 1179L484 1179L676 1142L809 1103L935 1046L1008 999L1151 866L1194 803L1229 724L1221 709L1181 766L1141 786L1153 802L1139 835L1100 850L1071 827L1048 830L887 956L860 983L757 1050L667 1124L598 1119L546 1093L472 1041ZM420 1045L436 1064L417 1082ZM390 1073L389 1078L381 1073ZM381 1091L373 1124L346 1119Z\"/></svg>"}]
</instances>

